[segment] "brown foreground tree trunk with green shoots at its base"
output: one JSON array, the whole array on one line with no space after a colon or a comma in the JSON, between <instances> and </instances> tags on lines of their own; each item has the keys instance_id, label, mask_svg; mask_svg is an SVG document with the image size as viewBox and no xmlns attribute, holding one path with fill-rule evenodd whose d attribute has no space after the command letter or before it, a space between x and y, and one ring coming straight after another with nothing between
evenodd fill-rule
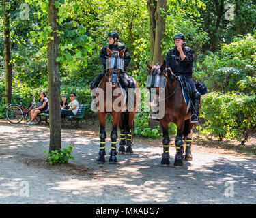
<instances>
[{"instance_id":1,"label":"brown foreground tree trunk with green shoots at its base","mask_svg":"<svg viewBox=\"0 0 256 218\"><path fill-rule=\"evenodd\" d=\"M49 91L49 110L50 110L50 144L49 153L52 150L61 149L61 114L59 110L60 81L59 64L56 62L59 53L59 37L56 31L59 29L59 23L56 21L59 10L54 6L55 0L48 0L48 25L53 30L48 41L47 59L48 59L48 91Z\"/></svg>"}]
</instances>

